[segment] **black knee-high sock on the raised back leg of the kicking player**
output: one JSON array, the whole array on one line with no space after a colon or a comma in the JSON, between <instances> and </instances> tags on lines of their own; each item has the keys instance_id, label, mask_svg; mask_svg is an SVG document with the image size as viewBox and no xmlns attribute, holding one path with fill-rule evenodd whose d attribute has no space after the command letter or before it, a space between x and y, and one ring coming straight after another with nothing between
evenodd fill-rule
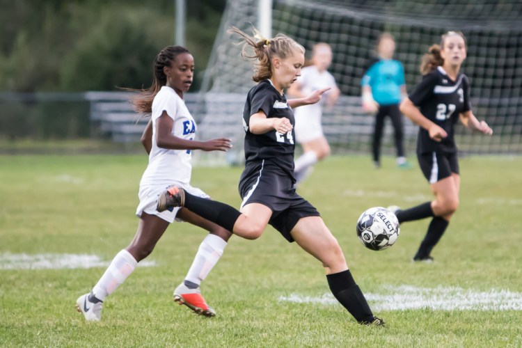
<instances>
[{"instance_id":1,"label":"black knee-high sock on the raised back leg of the kicking player","mask_svg":"<svg viewBox=\"0 0 522 348\"><path fill-rule=\"evenodd\" d=\"M233 232L234 224L241 213L230 205L218 202L217 200L210 200L193 196L185 191L184 207L199 216L212 221L217 225Z\"/></svg>"}]
</instances>

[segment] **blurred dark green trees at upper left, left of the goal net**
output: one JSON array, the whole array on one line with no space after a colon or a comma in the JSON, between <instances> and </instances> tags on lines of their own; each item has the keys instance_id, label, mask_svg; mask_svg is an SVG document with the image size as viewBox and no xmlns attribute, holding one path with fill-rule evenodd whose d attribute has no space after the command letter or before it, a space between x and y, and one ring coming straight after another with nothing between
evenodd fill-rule
<instances>
[{"instance_id":1,"label":"blurred dark green trees at upper left, left of the goal net","mask_svg":"<svg viewBox=\"0 0 522 348\"><path fill-rule=\"evenodd\" d=\"M226 0L187 1L197 90ZM0 91L141 88L173 45L175 0L0 0Z\"/></svg>"}]
</instances>

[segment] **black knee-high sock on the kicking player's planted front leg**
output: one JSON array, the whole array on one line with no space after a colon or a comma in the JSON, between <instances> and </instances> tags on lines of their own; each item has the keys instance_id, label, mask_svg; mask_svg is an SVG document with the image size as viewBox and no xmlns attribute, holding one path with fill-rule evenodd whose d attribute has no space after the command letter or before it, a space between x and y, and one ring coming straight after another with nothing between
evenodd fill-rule
<instances>
[{"instance_id":1,"label":"black knee-high sock on the kicking player's planted front leg","mask_svg":"<svg viewBox=\"0 0 522 348\"><path fill-rule=\"evenodd\" d=\"M351 276L349 269L339 273L328 274L326 276L330 290L348 312L354 316L358 322L372 322L374 316L370 306Z\"/></svg>"}]
</instances>

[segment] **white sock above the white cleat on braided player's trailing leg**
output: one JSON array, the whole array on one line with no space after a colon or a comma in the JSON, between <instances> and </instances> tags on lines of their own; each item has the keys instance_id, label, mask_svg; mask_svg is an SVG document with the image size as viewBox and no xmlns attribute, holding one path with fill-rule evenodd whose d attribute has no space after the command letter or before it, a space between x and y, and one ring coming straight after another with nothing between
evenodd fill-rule
<instances>
[{"instance_id":1,"label":"white sock above the white cleat on braided player's trailing leg","mask_svg":"<svg viewBox=\"0 0 522 348\"><path fill-rule=\"evenodd\" d=\"M125 249L116 254L102 278L93 287L93 294L104 301L134 271L138 262Z\"/></svg>"}]
</instances>

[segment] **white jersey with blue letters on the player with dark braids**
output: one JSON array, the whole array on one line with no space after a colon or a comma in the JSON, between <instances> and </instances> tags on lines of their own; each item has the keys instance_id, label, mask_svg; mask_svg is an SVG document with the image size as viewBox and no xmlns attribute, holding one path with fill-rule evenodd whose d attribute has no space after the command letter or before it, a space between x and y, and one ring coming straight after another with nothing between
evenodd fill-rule
<instances>
[{"instance_id":1,"label":"white jersey with blue letters on the player with dark braids","mask_svg":"<svg viewBox=\"0 0 522 348\"><path fill-rule=\"evenodd\" d=\"M158 148L156 143L156 122L163 111L166 111L168 116L174 120L173 136L187 140L192 140L196 136L196 122L184 101L172 88L161 87L152 102L152 149L149 154L149 164L141 177L140 186L168 185L173 182L189 184L190 182L191 151Z\"/></svg>"}]
</instances>

